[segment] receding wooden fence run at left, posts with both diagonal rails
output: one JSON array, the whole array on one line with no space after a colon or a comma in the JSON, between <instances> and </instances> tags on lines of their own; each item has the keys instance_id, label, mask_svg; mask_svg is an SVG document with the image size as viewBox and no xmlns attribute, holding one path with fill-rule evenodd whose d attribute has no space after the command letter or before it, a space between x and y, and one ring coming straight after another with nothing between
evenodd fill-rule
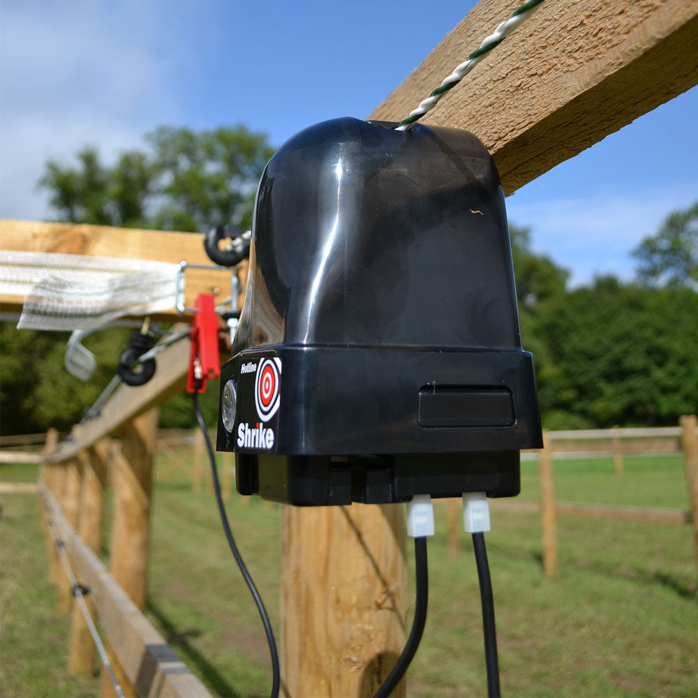
<instances>
[{"instance_id":1,"label":"receding wooden fence run at left, posts with both diagonal rails","mask_svg":"<svg viewBox=\"0 0 698 698\"><path fill-rule=\"evenodd\" d=\"M105 629L107 656L127 696L209 696L142 614L158 405L184 388L190 350L188 340L165 349L149 383L119 387L99 417L75 426L62 443L56 443L52 430L42 454L39 488L45 526L52 522L77 581L89 588L86 602ZM117 433L119 440L112 441ZM107 477L114 489L111 572L98 558ZM50 579L58 585L57 611L68 614L73 609L68 671L89 674L94 665L92 639L50 535L47 545ZM102 695L114 695L105 672Z\"/></svg>"}]
</instances>

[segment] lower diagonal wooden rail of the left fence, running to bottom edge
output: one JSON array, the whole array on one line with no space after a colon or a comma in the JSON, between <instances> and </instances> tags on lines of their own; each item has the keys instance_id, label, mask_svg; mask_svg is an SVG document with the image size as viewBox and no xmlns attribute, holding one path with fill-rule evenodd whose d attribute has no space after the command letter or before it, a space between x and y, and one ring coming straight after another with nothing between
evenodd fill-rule
<instances>
[{"instance_id":1,"label":"lower diagonal wooden rail of the left fence, running to bottom edge","mask_svg":"<svg viewBox=\"0 0 698 698\"><path fill-rule=\"evenodd\" d=\"M114 580L102 561L80 539L45 484L40 484L48 516L66 545L77 579L89 586L90 595L114 653L135 695L210 698L202 683L191 674L161 634Z\"/></svg>"}]
</instances>

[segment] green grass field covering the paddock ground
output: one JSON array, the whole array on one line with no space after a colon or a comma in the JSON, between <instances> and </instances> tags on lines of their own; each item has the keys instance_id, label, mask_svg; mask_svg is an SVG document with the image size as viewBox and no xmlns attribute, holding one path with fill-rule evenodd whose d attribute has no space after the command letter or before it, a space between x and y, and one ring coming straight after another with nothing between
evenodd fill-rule
<instances>
[{"instance_id":1,"label":"green grass field covering the paddock ground","mask_svg":"<svg viewBox=\"0 0 698 698\"><path fill-rule=\"evenodd\" d=\"M680 457L557 461L556 497L685 508ZM268 695L268 651L251 597L225 546L211 494L191 491L189 452L160 454L152 519L148 615L211 692ZM1 466L0 480L36 470ZM537 499L537 466L522 464L521 498ZM54 616L36 498L0 497L0 695L89 696L96 679L64 671L68 618ZM486 692L475 561L463 533L447 551L445 507L429 541L424 639L410 696ZM279 628L279 507L235 496L228 511ZM545 579L540 517L496 511L487 537L503 695L698 695L698 565L690 526L558 519L560 574ZM408 546L408 549L410 547ZM413 569L410 560L410 577ZM411 597L411 591L410 591Z\"/></svg>"}]
</instances>

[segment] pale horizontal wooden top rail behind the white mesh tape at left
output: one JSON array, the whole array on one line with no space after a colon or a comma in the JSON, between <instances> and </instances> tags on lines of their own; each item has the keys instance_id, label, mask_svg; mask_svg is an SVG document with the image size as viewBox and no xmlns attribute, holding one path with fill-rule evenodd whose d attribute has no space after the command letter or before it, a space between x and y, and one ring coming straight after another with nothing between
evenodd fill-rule
<instances>
[{"instance_id":1,"label":"pale horizontal wooden top rail behind the white mesh tape at left","mask_svg":"<svg viewBox=\"0 0 698 698\"><path fill-rule=\"evenodd\" d=\"M153 260L179 264L213 265L204 250L203 235L195 232L163 232L137 228L109 228L105 225L36 223L0 220L0 250L49 252L89 257ZM216 303L230 295L230 272L220 269L187 269L186 305L192 307L200 293L214 293ZM3 311L20 312L22 298L0 295ZM177 312L156 315L176 320Z\"/></svg>"}]
</instances>

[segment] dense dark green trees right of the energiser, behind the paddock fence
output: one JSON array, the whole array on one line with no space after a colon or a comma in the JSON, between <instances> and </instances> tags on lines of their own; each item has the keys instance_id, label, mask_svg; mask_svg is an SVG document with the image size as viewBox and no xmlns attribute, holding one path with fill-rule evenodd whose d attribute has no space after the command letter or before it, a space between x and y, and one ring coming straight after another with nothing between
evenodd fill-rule
<instances>
[{"instance_id":1,"label":"dense dark green trees right of the energiser, behind the paddock fence","mask_svg":"<svg viewBox=\"0 0 698 698\"><path fill-rule=\"evenodd\" d=\"M565 389L542 401L544 420L566 414L602 427L676 424L695 410L698 394L695 318L698 293L690 288L609 276L556 299L537 331Z\"/></svg>"}]
</instances>

